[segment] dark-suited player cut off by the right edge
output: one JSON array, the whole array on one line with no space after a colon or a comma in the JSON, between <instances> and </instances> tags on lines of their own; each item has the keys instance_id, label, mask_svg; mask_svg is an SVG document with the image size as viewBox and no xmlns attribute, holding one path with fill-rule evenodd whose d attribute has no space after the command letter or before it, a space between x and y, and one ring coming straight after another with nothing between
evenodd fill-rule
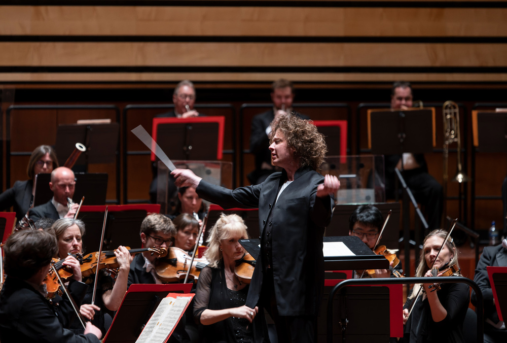
<instances>
[{"instance_id":1,"label":"dark-suited player cut off by the right edge","mask_svg":"<svg viewBox=\"0 0 507 343\"><path fill-rule=\"evenodd\" d=\"M500 245L484 248L474 275L474 282L481 288L484 297L484 343L504 342L507 341L507 330L505 330L505 323L499 320L496 312L487 266L507 267L506 239ZM474 290L472 290L471 300L477 306Z\"/></svg>"}]
</instances>

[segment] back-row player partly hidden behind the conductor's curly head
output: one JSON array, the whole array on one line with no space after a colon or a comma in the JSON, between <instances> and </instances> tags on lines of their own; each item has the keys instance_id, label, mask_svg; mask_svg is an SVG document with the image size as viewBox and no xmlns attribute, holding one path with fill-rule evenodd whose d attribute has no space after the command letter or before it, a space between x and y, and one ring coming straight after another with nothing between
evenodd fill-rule
<instances>
[{"instance_id":1,"label":"back-row player partly hidden behind the conductor's curly head","mask_svg":"<svg viewBox=\"0 0 507 343\"><path fill-rule=\"evenodd\" d=\"M271 165L271 153L269 152L269 138L271 122L280 114L292 111L294 100L294 85L291 81L279 79L273 82L271 101L273 108L256 115L252 118L250 133L250 152L255 155L255 170L248 174L248 181L257 185L280 169ZM309 119L308 116L296 114L301 119Z\"/></svg>"}]
</instances>

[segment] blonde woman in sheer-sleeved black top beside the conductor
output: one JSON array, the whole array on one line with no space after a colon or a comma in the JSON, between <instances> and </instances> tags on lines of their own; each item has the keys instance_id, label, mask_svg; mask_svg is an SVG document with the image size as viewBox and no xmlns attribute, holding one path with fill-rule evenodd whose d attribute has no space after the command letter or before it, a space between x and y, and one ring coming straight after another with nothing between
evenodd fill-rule
<instances>
[{"instance_id":1,"label":"blonde woman in sheer-sleeved black top beside the conductor","mask_svg":"<svg viewBox=\"0 0 507 343\"><path fill-rule=\"evenodd\" d=\"M238 242L242 238L248 235L238 215L222 214L211 228L205 253L210 263L201 270L194 298L194 318L204 325L205 342L253 341L250 323L259 309L244 305L248 284L234 273L245 253Z\"/></svg>"}]
</instances>

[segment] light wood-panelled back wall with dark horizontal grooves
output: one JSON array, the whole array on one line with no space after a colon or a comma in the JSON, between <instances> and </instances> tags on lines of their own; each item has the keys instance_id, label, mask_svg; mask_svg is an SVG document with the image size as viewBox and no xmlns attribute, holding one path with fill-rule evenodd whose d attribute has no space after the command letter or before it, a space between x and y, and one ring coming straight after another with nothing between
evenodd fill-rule
<instances>
[{"instance_id":1,"label":"light wood-panelled back wall with dark horizontal grooves","mask_svg":"<svg viewBox=\"0 0 507 343\"><path fill-rule=\"evenodd\" d=\"M503 82L507 74L503 2L18 4L0 6L4 82L88 82L87 74L97 82L181 74L217 82Z\"/></svg>"}]
</instances>

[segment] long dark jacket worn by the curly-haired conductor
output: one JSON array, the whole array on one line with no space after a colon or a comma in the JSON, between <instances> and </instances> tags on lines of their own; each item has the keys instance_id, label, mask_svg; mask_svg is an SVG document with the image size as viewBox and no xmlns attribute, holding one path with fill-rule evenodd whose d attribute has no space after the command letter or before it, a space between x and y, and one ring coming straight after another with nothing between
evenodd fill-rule
<instances>
[{"instance_id":1,"label":"long dark jacket worn by the curly-haired conductor","mask_svg":"<svg viewBox=\"0 0 507 343\"><path fill-rule=\"evenodd\" d=\"M261 237L272 214L273 279L280 316L316 315L324 283L322 236L331 221L332 197L316 196L324 177L300 168L295 180L275 200L286 181L285 172L271 174L262 184L230 190L201 181L197 194L230 208L259 208ZM255 307L261 297L264 244L253 271L246 305Z\"/></svg>"}]
</instances>

